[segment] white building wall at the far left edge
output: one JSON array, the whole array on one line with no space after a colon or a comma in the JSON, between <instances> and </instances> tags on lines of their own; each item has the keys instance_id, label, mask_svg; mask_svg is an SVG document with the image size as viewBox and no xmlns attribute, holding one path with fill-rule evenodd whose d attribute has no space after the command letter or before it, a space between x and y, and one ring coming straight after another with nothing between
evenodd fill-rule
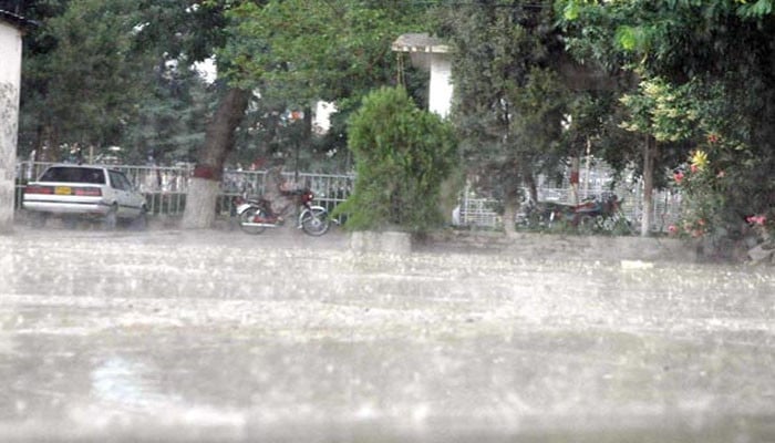
<instances>
[{"instance_id":1,"label":"white building wall at the far left edge","mask_svg":"<svg viewBox=\"0 0 775 443\"><path fill-rule=\"evenodd\" d=\"M0 20L0 233L10 231L13 222L21 38L19 29Z\"/></svg>"}]
</instances>

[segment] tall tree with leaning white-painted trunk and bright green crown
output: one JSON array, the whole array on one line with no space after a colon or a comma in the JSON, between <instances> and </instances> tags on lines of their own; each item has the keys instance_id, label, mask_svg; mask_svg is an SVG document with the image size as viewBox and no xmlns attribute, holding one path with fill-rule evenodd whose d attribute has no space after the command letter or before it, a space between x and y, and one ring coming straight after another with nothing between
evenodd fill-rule
<instances>
[{"instance_id":1,"label":"tall tree with leaning white-painted trunk and bright green crown","mask_svg":"<svg viewBox=\"0 0 775 443\"><path fill-rule=\"evenodd\" d=\"M395 20L414 17L399 2L372 1L210 1L203 9L223 14L217 49L219 75L228 84L192 179L183 218L185 227L213 223L210 208L224 161L234 147L237 117L252 91L286 99L304 109L309 134L313 100L360 96L390 72L390 42L400 32ZM231 20L230 22L228 20Z\"/></svg>"}]
</instances>

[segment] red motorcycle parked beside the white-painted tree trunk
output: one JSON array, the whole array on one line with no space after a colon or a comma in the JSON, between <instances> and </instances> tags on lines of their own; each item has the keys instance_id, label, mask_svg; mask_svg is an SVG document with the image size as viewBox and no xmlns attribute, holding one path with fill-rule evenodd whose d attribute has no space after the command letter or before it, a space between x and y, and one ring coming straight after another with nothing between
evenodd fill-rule
<instances>
[{"instance_id":1,"label":"red motorcycle parked beside the white-painted tree trunk","mask_svg":"<svg viewBox=\"0 0 775 443\"><path fill-rule=\"evenodd\" d=\"M321 236L328 233L331 226L328 210L322 206L313 206L314 194L309 188L296 189L285 193L293 196L298 208L297 228L311 236ZM236 214L239 227L247 234L261 234L267 228L276 228L283 225L279 214L271 210L271 202L266 198L241 197L236 202Z\"/></svg>"}]
</instances>

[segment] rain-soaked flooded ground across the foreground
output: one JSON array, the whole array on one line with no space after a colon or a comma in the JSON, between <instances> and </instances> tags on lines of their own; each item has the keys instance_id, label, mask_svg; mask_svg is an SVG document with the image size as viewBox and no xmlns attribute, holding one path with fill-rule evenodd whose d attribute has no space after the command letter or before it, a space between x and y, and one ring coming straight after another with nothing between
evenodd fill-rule
<instances>
[{"instance_id":1,"label":"rain-soaked flooded ground across the foreground","mask_svg":"<svg viewBox=\"0 0 775 443\"><path fill-rule=\"evenodd\" d=\"M2 442L775 441L773 268L0 237Z\"/></svg>"}]
</instances>

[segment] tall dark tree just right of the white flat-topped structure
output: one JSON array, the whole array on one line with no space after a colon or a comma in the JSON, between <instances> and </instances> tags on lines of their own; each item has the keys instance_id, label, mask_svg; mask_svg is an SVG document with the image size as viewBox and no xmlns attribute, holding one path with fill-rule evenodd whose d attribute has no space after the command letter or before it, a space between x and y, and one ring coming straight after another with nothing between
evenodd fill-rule
<instances>
[{"instance_id":1,"label":"tall dark tree just right of the white flat-topped structure","mask_svg":"<svg viewBox=\"0 0 775 443\"><path fill-rule=\"evenodd\" d=\"M453 120L464 162L503 196L507 231L523 182L559 157L568 97L552 65L562 49L551 22L549 2L489 0L447 10L442 21L454 48Z\"/></svg>"}]
</instances>

